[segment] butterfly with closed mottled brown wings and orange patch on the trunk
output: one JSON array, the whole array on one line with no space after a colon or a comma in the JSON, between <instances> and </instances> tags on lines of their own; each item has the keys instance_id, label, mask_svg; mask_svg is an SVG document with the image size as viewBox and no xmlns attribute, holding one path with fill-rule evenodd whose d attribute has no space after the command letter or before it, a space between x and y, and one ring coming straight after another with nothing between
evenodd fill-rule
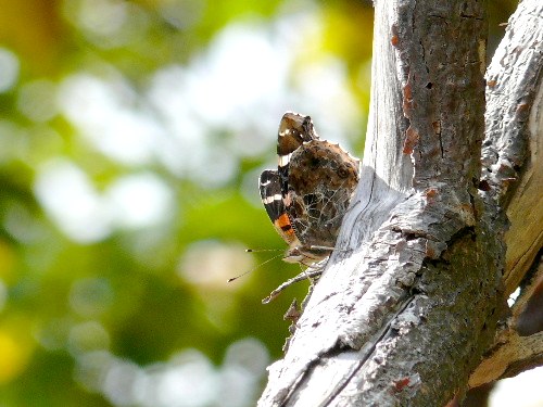
<instances>
[{"instance_id":1,"label":"butterfly with closed mottled brown wings and orange patch on the trunk","mask_svg":"<svg viewBox=\"0 0 543 407\"><path fill-rule=\"evenodd\" d=\"M288 112L277 138L277 170L260 177L264 207L289 244L283 260L306 266L330 255L358 183L359 160L319 140L310 116Z\"/></svg>"}]
</instances>

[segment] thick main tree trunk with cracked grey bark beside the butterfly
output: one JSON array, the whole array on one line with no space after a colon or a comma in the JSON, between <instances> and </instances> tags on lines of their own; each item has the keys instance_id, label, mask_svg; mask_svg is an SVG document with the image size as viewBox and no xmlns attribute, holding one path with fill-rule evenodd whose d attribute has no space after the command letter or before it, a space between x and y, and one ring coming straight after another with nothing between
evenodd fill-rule
<instances>
[{"instance_id":1,"label":"thick main tree trunk with cracked grey bark beside the butterfly","mask_svg":"<svg viewBox=\"0 0 543 407\"><path fill-rule=\"evenodd\" d=\"M350 252L328 262L260 406L445 405L492 349L510 200L502 179L479 182L485 28L476 0L376 1L363 173L337 243Z\"/></svg>"}]
</instances>

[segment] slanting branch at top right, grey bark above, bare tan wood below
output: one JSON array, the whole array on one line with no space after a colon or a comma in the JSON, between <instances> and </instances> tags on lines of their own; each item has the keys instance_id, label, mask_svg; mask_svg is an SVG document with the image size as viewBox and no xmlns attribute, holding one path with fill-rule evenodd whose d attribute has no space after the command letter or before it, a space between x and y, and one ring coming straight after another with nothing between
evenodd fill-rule
<instances>
[{"instance_id":1,"label":"slanting branch at top right, grey bark above, bare tan wood below","mask_svg":"<svg viewBox=\"0 0 543 407\"><path fill-rule=\"evenodd\" d=\"M522 1L487 72L482 180L507 211L506 292L519 285L543 243L543 4Z\"/></svg>"}]
</instances>

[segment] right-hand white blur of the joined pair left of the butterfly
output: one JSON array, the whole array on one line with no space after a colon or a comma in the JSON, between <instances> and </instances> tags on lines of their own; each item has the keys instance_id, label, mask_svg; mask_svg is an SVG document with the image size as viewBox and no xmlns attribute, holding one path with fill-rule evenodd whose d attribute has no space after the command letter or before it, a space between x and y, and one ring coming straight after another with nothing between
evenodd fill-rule
<instances>
[{"instance_id":1,"label":"right-hand white blur of the joined pair left of the butterfly","mask_svg":"<svg viewBox=\"0 0 543 407\"><path fill-rule=\"evenodd\" d=\"M175 212L172 190L152 173L117 178L109 187L106 200L115 224L124 228L153 226Z\"/></svg>"}]
</instances>

